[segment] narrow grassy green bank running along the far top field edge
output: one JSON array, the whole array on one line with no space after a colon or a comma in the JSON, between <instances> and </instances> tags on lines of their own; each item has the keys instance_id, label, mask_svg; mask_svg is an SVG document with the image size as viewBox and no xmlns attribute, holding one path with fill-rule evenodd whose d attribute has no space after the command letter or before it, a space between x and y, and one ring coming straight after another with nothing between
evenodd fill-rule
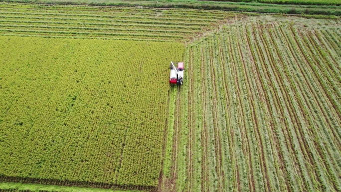
<instances>
[{"instance_id":1,"label":"narrow grassy green bank running along the far top field edge","mask_svg":"<svg viewBox=\"0 0 341 192\"><path fill-rule=\"evenodd\" d=\"M313 14L313 15L341 15L340 6L336 5L296 5L296 4L267 4L253 2L226 2L222 1L149 1L149 0L0 0L0 2L38 3L38 4L69 4L92 6L127 6L150 8L186 8L205 10L243 11L259 13L283 14Z\"/></svg>"}]
</instances>

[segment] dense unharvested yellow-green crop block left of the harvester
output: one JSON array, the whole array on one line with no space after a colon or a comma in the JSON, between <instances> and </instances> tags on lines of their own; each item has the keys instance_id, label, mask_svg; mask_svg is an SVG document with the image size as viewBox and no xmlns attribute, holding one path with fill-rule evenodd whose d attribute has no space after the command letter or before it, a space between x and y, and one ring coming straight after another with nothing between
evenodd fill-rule
<instances>
[{"instance_id":1,"label":"dense unharvested yellow-green crop block left of the harvester","mask_svg":"<svg viewBox=\"0 0 341 192\"><path fill-rule=\"evenodd\" d=\"M153 190L182 43L0 36L0 180Z\"/></svg>"}]
</instances>

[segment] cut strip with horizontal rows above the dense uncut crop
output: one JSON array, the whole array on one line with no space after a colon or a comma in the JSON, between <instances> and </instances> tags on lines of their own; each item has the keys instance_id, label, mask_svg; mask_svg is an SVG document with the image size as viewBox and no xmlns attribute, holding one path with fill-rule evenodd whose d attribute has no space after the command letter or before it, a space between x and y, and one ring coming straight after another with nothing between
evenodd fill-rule
<instances>
[{"instance_id":1,"label":"cut strip with horizontal rows above the dense uncut crop","mask_svg":"<svg viewBox=\"0 0 341 192\"><path fill-rule=\"evenodd\" d=\"M0 3L1 34L190 41L236 13ZM62 34L62 35L60 35Z\"/></svg>"}]
</instances>

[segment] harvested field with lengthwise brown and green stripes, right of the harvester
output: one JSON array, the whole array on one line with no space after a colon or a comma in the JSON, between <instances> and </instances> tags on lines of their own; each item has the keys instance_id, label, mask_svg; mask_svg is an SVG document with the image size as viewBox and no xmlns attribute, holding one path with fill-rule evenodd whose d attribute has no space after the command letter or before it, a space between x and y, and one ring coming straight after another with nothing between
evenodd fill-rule
<instances>
[{"instance_id":1,"label":"harvested field with lengthwise brown and green stripes, right of the harvester","mask_svg":"<svg viewBox=\"0 0 341 192\"><path fill-rule=\"evenodd\" d=\"M160 191L341 191L340 26L256 20L187 47Z\"/></svg>"}]
</instances>

